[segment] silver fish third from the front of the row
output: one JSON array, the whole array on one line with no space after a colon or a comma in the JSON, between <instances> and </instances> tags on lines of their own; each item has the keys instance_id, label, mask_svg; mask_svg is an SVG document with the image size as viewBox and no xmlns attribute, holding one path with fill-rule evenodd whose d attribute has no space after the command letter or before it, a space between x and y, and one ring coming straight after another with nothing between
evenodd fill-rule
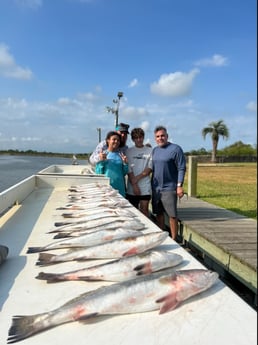
<instances>
[{"instance_id":1,"label":"silver fish third from the front of the row","mask_svg":"<svg viewBox=\"0 0 258 345\"><path fill-rule=\"evenodd\" d=\"M44 266L73 260L122 258L154 248L165 241L167 237L168 232L158 231L139 236L128 236L83 249L74 249L60 255L39 253L36 264Z\"/></svg>"}]
</instances>

